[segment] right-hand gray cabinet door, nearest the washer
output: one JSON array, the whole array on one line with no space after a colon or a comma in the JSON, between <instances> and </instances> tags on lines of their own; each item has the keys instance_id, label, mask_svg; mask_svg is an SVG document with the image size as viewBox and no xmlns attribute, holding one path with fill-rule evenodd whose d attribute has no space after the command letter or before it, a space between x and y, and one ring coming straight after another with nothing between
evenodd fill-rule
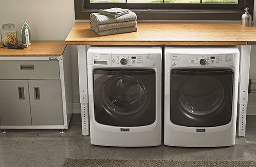
<instances>
[{"instance_id":1,"label":"right-hand gray cabinet door, nearest the washer","mask_svg":"<svg viewBox=\"0 0 256 167\"><path fill-rule=\"evenodd\" d=\"M28 80L32 125L63 125L60 80Z\"/></svg>"}]
</instances>

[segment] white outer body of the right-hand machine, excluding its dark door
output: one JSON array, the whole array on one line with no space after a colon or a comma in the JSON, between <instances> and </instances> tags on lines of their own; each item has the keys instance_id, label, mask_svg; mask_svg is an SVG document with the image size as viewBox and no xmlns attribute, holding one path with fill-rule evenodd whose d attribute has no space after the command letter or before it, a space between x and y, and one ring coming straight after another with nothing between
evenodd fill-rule
<instances>
[{"instance_id":1,"label":"white outer body of the right-hand machine, excluding its dark door","mask_svg":"<svg viewBox=\"0 0 256 167\"><path fill-rule=\"evenodd\" d=\"M164 144L179 147L222 147L235 144L239 56L237 47L165 47ZM204 60L201 60L204 59ZM201 63L204 65L200 64ZM189 127L171 122L171 70L233 70L232 117L227 125ZM192 85L191 85L192 86Z\"/></svg>"}]
</instances>

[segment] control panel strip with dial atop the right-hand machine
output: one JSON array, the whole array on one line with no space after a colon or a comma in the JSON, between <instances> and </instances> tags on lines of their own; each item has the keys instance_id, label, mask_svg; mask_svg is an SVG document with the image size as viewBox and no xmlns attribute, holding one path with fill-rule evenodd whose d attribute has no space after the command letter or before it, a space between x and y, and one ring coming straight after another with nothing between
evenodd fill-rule
<instances>
[{"instance_id":1,"label":"control panel strip with dial atop the right-hand machine","mask_svg":"<svg viewBox=\"0 0 256 167\"><path fill-rule=\"evenodd\" d=\"M171 55L171 66L232 66L234 55Z\"/></svg>"}]
</instances>

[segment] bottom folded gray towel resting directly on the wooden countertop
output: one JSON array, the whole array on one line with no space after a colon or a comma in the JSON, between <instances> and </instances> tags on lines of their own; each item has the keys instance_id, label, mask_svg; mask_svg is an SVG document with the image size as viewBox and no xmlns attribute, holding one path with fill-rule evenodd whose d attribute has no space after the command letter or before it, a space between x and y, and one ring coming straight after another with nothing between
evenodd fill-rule
<instances>
[{"instance_id":1,"label":"bottom folded gray towel resting directly on the wooden countertop","mask_svg":"<svg viewBox=\"0 0 256 167\"><path fill-rule=\"evenodd\" d=\"M120 33L126 33L126 32L135 32L137 31L137 26L134 27L125 27L125 28L114 28L114 29L108 29L105 31L99 31L93 27L91 27L92 30L94 30L99 36L105 36L105 35L112 35L112 34L120 34Z\"/></svg>"}]
</instances>

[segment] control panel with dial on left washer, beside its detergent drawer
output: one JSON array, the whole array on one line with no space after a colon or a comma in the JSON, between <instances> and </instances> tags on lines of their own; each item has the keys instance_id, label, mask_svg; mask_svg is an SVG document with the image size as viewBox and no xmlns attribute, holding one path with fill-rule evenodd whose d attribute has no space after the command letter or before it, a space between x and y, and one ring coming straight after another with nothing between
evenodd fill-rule
<instances>
[{"instance_id":1,"label":"control panel with dial on left washer, beside its detergent drawer","mask_svg":"<svg viewBox=\"0 0 256 167\"><path fill-rule=\"evenodd\" d=\"M155 66L155 55L112 55L111 66Z\"/></svg>"}]
</instances>

